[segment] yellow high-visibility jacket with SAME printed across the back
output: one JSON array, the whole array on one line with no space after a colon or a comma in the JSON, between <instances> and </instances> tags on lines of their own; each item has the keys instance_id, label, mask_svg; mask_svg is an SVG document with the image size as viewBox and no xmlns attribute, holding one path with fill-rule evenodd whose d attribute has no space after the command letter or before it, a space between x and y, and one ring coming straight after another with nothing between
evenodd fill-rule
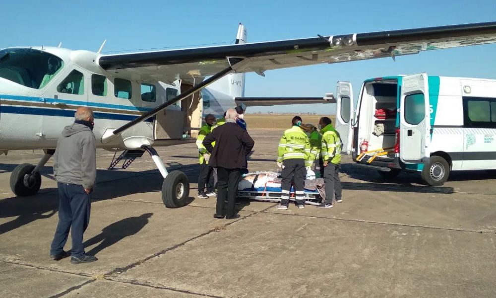
<instances>
[{"instance_id":1,"label":"yellow high-visibility jacket with SAME printed across the back","mask_svg":"<svg viewBox=\"0 0 496 298\"><path fill-rule=\"evenodd\" d=\"M305 159L305 165L308 163L310 156L310 139L305 132L298 126L286 130L282 135L281 141L277 148L277 161L282 162L286 159Z\"/></svg>"}]
</instances>

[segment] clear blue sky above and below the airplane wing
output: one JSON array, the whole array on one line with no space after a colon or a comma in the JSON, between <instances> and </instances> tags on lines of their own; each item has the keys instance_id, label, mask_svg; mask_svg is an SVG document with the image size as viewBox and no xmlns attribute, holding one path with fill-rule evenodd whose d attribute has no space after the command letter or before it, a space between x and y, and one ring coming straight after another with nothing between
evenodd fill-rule
<instances>
[{"instance_id":1,"label":"clear blue sky above and below the airplane wing","mask_svg":"<svg viewBox=\"0 0 496 298\"><path fill-rule=\"evenodd\" d=\"M74 3L71 3L74 2ZM4 1L0 48L45 45L104 52L229 43L238 23L248 42L496 21L494 0L416 1ZM423 52L392 59L248 74L246 96L323 96L338 80L355 97L370 77L428 72L496 79L496 45ZM250 108L332 113L330 105Z\"/></svg>"}]
</instances>

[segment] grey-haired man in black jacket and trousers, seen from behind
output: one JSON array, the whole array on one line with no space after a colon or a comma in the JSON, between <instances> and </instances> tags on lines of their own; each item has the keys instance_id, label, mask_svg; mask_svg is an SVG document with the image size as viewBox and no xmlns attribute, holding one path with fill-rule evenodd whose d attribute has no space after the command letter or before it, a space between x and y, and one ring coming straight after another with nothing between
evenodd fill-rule
<instances>
[{"instance_id":1,"label":"grey-haired man in black jacket and trousers, seen from behind","mask_svg":"<svg viewBox=\"0 0 496 298\"><path fill-rule=\"evenodd\" d=\"M226 219L234 216L234 204L241 168L246 156L251 152L254 142L248 132L236 124L238 113L235 109L226 112L226 124L214 129L203 140L203 146L211 153L208 165L217 168L218 191L215 218L224 218L224 204L227 199ZM215 147L212 142L215 141ZM239 216L238 216L239 217Z\"/></svg>"}]
</instances>

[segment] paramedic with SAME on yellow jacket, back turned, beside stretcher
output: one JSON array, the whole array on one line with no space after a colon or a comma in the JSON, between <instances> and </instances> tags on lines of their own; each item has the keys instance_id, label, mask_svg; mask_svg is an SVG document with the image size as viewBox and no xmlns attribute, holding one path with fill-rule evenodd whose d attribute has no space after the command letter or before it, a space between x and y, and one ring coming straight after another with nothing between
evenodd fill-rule
<instances>
[{"instance_id":1,"label":"paramedic with SAME on yellow jacket, back turned, beside stretcher","mask_svg":"<svg viewBox=\"0 0 496 298\"><path fill-rule=\"evenodd\" d=\"M310 140L300 128L302 118L296 116L291 123L293 127L284 132L277 148L277 165L282 168L281 203L276 207L280 210L288 209L291 182L295 185L296 205L300 209L305 208L304 187L306 167L309 166Z\"/></svg>"}]
</instances>

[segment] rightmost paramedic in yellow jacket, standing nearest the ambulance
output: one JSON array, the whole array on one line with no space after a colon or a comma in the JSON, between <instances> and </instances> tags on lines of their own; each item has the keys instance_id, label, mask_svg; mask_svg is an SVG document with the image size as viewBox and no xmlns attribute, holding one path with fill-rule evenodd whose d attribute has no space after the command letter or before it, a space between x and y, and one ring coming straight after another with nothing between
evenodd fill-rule
<instances>
[{"instance_id":1,"label":"rightmost paramedic in yellow jacket, standing nearest the ambulance","mask_svg":"<svg viewBox=\"0 0 496 298\"><path fill-rule=\"evenodd\" d=\"M332 208L333 195L336 196L336 202L343 202L341 199L341 181L339 180L341 138L328 117L320 118L318 125L322 133L320 154L322 155L323 169L320 169L320 173L325 182L325 200L317 208Z\"/></svg>"}]
</instances>

